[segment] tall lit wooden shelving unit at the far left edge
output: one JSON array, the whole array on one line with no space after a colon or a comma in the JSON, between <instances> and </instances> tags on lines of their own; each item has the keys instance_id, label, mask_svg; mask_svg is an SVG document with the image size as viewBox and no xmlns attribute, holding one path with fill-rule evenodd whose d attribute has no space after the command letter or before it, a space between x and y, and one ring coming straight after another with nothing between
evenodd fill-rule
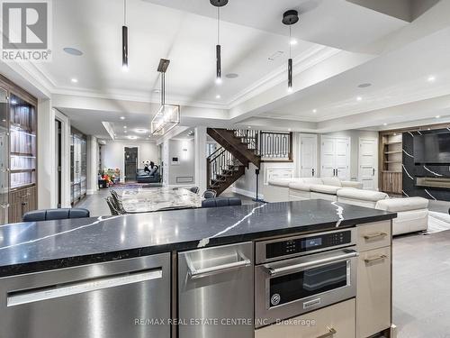
<instances>
[{"instance_id":1,"label":"tall lit wooden shelving unit at the far left edge","mask_svg":"<svg viewBox=\"0 0 450 338\"><path fill-rule=\"evenodd\" d=\"M0 76L0 224L37 207L37 99Z\"/></svg>"}]
</instances>

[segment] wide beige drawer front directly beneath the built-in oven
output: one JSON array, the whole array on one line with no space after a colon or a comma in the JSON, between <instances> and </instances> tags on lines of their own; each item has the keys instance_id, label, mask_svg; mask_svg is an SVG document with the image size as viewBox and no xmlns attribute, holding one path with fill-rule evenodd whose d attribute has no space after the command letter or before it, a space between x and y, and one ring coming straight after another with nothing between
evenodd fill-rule
<instances>
[{"instance_id":1,"label":"wide beige drawer front directly beneath the built-in oven","mask_svg":"<svg viewBox=\"0 0 450 338\"><path fill-rule=\"evenodd\" d=\"M352 338L355 337L355 299L263 327L255 338Z\"/></svg>"}]
</instances>

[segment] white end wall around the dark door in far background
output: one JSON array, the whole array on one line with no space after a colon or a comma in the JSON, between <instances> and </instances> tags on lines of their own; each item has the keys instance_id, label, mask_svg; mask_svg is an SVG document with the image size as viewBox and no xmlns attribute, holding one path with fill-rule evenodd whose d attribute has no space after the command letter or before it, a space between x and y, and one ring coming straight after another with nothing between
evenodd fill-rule
<instances>
[{"instance_id":1,"label":"white end wall around the dark door in far background","mask_svg":"<svg viewBox=\"0 0 450 338\"><path fill-rule=\"evenodd\" d=\"M138 164L139 168L144 168L143 160L153 160L157 165L158 151L154 142L148 141L107 141L102 148L103 168L119 168L121 169L121 181L124 181L124 150L125 147L138 147Z\"/></svg>"}]
</instances>

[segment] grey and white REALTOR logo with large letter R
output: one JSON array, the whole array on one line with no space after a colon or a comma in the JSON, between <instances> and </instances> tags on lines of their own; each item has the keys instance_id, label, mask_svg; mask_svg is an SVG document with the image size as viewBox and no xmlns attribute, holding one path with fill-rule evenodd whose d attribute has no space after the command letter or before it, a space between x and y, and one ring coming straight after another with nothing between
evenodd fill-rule
<instances>
[{"instance_id":1,"label":"grey and white REALTOR logo with large letter R","mask_svg":"<svg viewBox=\"0 0 450 338\"><path fill-rule=\"evenodd\" d=\"M2 1L2 59L4 61L48 61L48 0Z\"/></svg>"}]
</instances>

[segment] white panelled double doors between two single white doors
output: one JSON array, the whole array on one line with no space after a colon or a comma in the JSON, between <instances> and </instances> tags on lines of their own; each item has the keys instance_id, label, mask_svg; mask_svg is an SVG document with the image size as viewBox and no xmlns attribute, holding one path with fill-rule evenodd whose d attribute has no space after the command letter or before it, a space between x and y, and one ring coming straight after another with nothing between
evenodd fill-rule
<instances>
[{"instance_id":1,"label":"white panelled double doors between two single white doors","mask_svg":"<svg viewBox=\"0 0 450 338\"><path fill-rule=\"evenodd\" d=\"M350 138L322 136L320 177L350 179Z\"/></svg>"}]
</instances>

